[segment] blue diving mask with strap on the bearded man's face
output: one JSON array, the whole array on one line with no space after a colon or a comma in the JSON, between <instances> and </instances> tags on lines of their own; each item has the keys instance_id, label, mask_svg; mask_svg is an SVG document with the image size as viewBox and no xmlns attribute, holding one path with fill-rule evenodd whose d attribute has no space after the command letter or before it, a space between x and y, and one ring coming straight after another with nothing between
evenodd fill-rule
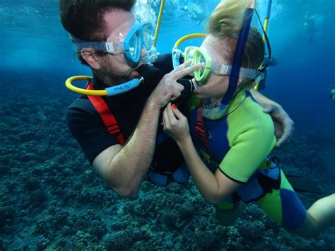
<instances>
[{"instance_id":1,"label":"blue diving mask with strap on the bearded man's face","mask_svg":"<svg viewBox=\"0 0 335 251\"><path fill-rule=\"evenodd\" d=\"M142 48L144 47L145 49L150 50L151 47L153 47L154 37L153 26L151 23L134 23L125 37L122 33L120 33L119 36L120 39L118 42L84 41L73 35L71 35L71 40L76 45L78 51L88 47L110 54L124 53L127 60L135 65L139 64Z\"/></svg>"}]
</instances>

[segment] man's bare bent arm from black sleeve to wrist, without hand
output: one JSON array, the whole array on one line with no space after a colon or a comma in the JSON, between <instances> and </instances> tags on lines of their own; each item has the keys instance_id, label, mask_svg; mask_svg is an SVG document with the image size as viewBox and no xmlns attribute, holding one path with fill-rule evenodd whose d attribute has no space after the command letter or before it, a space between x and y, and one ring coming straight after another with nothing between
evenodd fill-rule
<instances>
[{"instance_id":1,"label":"man's bare bent arm from black sleeve to wrist, without hand","mask_svg":"<svg viewBox=\"0 0 335 251\"><path fill-rule=\"evenodd\" d=\"M146 103L129 141L123 147L110 146L93 160L95 170L122 197L136 197L150 167L159 114L160 107Z\"/></svg>"}]
</instances>

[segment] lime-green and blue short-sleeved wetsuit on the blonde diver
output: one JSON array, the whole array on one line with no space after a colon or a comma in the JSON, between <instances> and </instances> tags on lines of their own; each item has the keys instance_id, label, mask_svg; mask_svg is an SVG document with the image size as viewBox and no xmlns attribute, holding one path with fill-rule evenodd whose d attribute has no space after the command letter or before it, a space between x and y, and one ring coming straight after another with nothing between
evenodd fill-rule
<instances>
[{"instance_id":1,"label":"lime-green and blue short-sleeved wetsuit on the blonde diver","mask_svg":"<svg viewBox=\"0 0 335 251\"><path fill-rule=\"evenodd\" d=\"M189 105L192 103L194 100ZM199 100L195 103L199 104ZM240 200L257 201L284 227L299 228L305 221L305 207L283 172L267 158L276 137L271 117L262 110L251 93L240 91L221 119L203 118L206 139L195 132L199 115L198 109L192 110L189 115L192 137L212 172L219 168L226 177L243 184L231 198L218 204L218 209L234 209Z\"/></svg>"}]
</instances>

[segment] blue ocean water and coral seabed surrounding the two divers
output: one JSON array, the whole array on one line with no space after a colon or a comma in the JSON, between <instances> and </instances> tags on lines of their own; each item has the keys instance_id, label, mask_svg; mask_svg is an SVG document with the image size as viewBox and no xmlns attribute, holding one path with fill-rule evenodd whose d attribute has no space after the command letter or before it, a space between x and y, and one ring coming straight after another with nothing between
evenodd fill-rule
<instances>
[{"instance_id":1,"label":"blue ocean water and coral seabed surrounding the two divers","mask_svg":"<svg viewBox=\"0 0 335 251\"><path fill-rule=\"evenodd\" d=\"M157 15L160 1L141 2ZM170 52L182 35L203 32L218 2L167 1L158 52ZM259 1L260 16L264 3ZM278 65L269 69L262 91L295 121L292 141L276 152L288 172L310 175L332 192L335 101L329 93L335 88L334 20L332 0L274 0L269 40ZM125 250L259 249L274 238L274 250L334 249L334 228L305 240L271 225L257 207L247 211L253 221L242 222L249 228L235 226L231 233L218 229L213 209L192 184L158 188L146 183L138 201L119 199L90 168L64 122L66 107L77 97L66 90L64 81L90 75L90 70L79 64L61 27L58 1L2 0L0 24L0 250L102 250L108 238L123 243ZM319 198L301 197L306 205ZM173 222L169 214L153 210L169 204L176 205L170 211L177 211L178 205L185 208ZM143 217L146 213L148 218ZM260 233L253 235L246 229L254 229L254 221ZM221 242L213 240L213 228ZM275 237L269 234L272 228ZM128 235L138 237L128 240ZM200 239L216 244L206 246Z\"/></svg>"}]
</instances>

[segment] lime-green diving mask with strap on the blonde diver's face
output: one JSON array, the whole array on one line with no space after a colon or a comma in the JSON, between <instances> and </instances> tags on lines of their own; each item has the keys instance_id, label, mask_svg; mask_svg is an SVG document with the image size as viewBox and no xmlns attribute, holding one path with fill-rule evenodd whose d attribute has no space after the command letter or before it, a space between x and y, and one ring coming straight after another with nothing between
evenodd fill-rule
<instances>
[{"instance_id":1,"label":"lime-green diving mask with strap on the blonde diver's face","mask_svg":"<svg viewBox=\"0 0 335 251\"><path fill-rule=\"evenodd\" d=\"M186 62L189 59L192 59L192 65L203 64L201 68L194 71L194 78L199 83L199 86L201 86L201 84L204 85L204 82L211 72L221 76L229 76L233 67L231 65L213 62L208 53L205 52L204 49L201 49L201 47L186 47L184 50L184 61ZM255 69L241 68L240 77L261 80L264 78L264 73Z\"/></svg>"}]
</instances>

